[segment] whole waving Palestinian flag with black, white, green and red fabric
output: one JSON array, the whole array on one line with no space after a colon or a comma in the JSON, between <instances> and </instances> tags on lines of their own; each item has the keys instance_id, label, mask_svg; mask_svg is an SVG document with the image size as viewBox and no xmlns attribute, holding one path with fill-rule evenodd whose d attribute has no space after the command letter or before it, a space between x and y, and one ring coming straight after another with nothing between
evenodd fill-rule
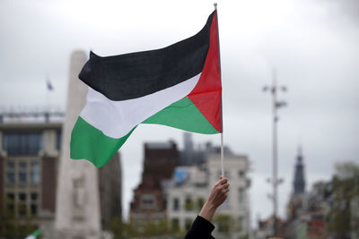
<instances>
[{"instance_id":1,"label":"whole waving Palestinian flag with black, white, green and red fabric","mask_svg":"<svg viewBox=\"0 0 359 239\"><path fill-rule=\"evenodd\" d=\"M138 124L222 132L216 11L195 36L169 47L102 57L79 74L87 102L71 135L71 158L103 166Z\"/></svg>"}]
</instances>

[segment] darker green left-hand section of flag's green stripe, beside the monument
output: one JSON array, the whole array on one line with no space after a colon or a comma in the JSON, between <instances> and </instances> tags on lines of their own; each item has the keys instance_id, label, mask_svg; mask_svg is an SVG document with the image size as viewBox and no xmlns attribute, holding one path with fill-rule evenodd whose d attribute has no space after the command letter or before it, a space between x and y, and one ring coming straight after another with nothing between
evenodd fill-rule
<instances>
[{"instance_id":1,"label":"darker green left-hand section of flag's green stripe, beside the monument","mask_svg":"<svg viewBox=\"0 0 359 239\"><path fill-rule=\"evenodd\" d=\"M70 157L73 159L85 158L94 166L104 166L135 129L136 127L122 138L114 139L106 136L79 116L71 133Z\"/></svg>"}]
</instances>

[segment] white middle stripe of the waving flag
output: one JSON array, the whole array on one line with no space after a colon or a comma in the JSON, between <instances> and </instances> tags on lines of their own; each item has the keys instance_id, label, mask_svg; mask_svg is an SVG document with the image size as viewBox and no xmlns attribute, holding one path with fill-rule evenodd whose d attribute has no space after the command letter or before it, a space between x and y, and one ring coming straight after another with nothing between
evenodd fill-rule
<instances>
[{"instance_id":1,"label":"white middle stripe of the waving flag","mask_svg":"<svg viewBox=\"0 0 359 239\"><path fill-rule=\"evenodd\" d=\"M121 138L137 124L186 97L197 85L201 73L170 88L153 94L121 101L112 101L89 87L81 117L112 138Z\"/></svg>"}]
</instances>

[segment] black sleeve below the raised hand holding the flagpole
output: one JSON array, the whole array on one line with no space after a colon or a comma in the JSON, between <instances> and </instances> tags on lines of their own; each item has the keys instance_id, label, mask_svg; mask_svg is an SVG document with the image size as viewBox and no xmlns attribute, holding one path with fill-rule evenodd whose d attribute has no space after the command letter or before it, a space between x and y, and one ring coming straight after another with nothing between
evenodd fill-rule
<instances>
[{"instance_id":1,"label":"black sleeve below the raised hand holding the flagpole","mask_svg":"<svg viewBox=\"0 0 359 239\"><path fill-rule=\"evenodd\" d=\"M197 216L184 239L212 239L215 226L205 218Z\"/></svg>"}]
</instances>

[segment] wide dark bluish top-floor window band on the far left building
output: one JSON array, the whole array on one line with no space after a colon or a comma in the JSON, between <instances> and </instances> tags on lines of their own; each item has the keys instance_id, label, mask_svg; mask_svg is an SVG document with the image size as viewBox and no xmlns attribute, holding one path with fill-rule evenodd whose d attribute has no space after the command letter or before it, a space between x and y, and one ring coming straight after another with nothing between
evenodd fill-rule
<instances>
[{"instance_id":1,"label":"wide dark bluish top-floor window band on the far left building","mask_svg":"<svg viewBox=\"0 0 359 239\"><path fill-rule=\"evenodd\" d=\"M3 149L9 156L37 155L41 148L41 132L4 132Z\"/></svg>"}]
</instances>

